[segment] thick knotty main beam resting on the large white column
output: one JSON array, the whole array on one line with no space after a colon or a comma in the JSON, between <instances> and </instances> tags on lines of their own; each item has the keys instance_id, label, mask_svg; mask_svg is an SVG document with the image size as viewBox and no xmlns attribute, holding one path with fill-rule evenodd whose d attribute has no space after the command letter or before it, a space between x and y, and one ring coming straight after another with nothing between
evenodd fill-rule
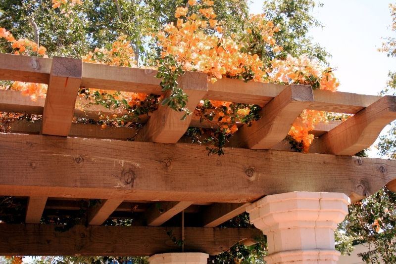
<instances>
[{"instance_id":1,"label":"thick knotty main beam resting on the large white column","mask_svg":"<svg viewBox=\"0 0 396 264\"><path fill-rule=\"evenodd\" d=\"M396 161L325 154L0 134L0 195L246 203L290 191L354 201L396 178ZM16 164L14 166L14 164Z\"/></svg>"}]
</instances>

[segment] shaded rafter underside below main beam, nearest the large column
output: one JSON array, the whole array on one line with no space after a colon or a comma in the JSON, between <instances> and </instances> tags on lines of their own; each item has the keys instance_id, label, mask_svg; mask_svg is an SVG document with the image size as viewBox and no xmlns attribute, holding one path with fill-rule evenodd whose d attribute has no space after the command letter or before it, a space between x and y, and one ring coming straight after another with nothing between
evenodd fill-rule
<instances>
[{"instance_id":1,"label":"shaded rafter underside below main beam, nearest the large column","mask_svg":"<svg viewBox=\"0 0 396 264\"><path fill-rule=\"evenodd\" d=\"M216 227L242 213L249 204L220 204L208 206L201 214L204 227Z\"/></svg>"}]
</instances>

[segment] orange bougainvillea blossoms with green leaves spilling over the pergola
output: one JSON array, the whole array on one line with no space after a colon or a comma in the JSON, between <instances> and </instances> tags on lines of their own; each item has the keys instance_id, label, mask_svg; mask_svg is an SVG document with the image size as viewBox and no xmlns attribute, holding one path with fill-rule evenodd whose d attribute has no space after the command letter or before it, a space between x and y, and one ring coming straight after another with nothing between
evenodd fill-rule
<instances>
[{"instance_id":1,"label":"orange bougainvillea blossoms with green leaves spilling over the pergola","mask_svg":"<svg viewBox=\"0 0 396 264\"><path fill-rule=\"evenodd\" d=\"M81 4L81 1L53 0L53 7L58 8L66 4ZM177 111L191 111L185 109L187 96L177 87L177 79L184 71L200 71L208 74L208 82L214 84L223 77L243 79L245 81L301 84L312 88L335 91L339 86L331 68L324 68L307 56L277 58L282 47L277 45L274 33L279 31L272 21L264 19L263 15L251 15L247 20L245 36L231 34L223 36L221 22L216 20L213 1L201 2L196 13L189 6L196 5L196 0L189 0L188 5L178 7L175 12L176 23L169 23L154 35L161 50L157 77L162 78L161 87L170 91L164 98L163 104L171 106ZM0 37L12 43L15 53L37 52L45 55L45 48L28 40L15 41L12 35L0 28ZM258 43L258 45L256 45ZM275 54L275 58L268 59L263 52ZM100 63L115 66L136 67L134 50L126 36L119 37L113 44L96 48L83 56L84 62ZM169 78L166 79L166 76ZM171 78L170 78L171 77ZM47 87L38 84L14 82L12 89L21 90L23 94L37 99L45 95ZM163 97L132 92L114 92L95 88L81 88L80 96L90 99L90 103L101 104L107 108L121 107L127 114L118 124L137 119L141 114L155 110ZM168 92L169 94L169 92ZM216 132L212 133L212 141L217 142L215 153L222 153L221 147L228 136L238 131L238 123L250 126L260 117L261 107L242 103L203 100L195 109L195 114L201 120L213 123ZM110 120L114 117L103 117ZM119 117L116 117L118 120ZM293 124L289 135L302 149L308 151L313 141L309 132L319 122L326 121L326 115L320 111L304 110ZM221 140L220 140L221 138Z\"/></svg>"}]
</instances>

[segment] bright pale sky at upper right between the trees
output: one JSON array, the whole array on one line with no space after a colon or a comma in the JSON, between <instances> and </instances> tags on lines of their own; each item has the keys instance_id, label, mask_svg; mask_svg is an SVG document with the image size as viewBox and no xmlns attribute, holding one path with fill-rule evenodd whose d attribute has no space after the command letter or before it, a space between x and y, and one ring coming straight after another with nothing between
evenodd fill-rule
<instances>
[{"instance_id":1,"label":"bright pale sky at upper right between the trees","mask_svg":"<svg viewBox=\"0 0 396 264\"><path fill-rule=\"evenodd\" d=\"M340 91L373 94L385 88L388 71L396 71L396 58L378 52L382 37L394 36L388 4L391 0L322 0L313 15L325 26L311 37L330 52L337 68ZM250 11L259 13L262 0L253 0Z\"/></svg>"}]
</instances>

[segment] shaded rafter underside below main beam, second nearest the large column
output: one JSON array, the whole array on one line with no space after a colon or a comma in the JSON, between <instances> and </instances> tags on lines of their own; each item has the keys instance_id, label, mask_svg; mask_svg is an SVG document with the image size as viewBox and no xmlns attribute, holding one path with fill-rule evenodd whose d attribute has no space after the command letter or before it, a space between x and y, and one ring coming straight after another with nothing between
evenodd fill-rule
<instances>
[{"instance_id":1,"label":"shaded rafter underside below main beam, second nearest the large column","mask_svg":"<svg viewBox=\"0 0 396 264\"><path fill-rule=\"evenodd\" d=\"M160 226L192 204L193 202L157 202L148 208L144 220L147 225Z\"/></svg>"}]
</instances>

